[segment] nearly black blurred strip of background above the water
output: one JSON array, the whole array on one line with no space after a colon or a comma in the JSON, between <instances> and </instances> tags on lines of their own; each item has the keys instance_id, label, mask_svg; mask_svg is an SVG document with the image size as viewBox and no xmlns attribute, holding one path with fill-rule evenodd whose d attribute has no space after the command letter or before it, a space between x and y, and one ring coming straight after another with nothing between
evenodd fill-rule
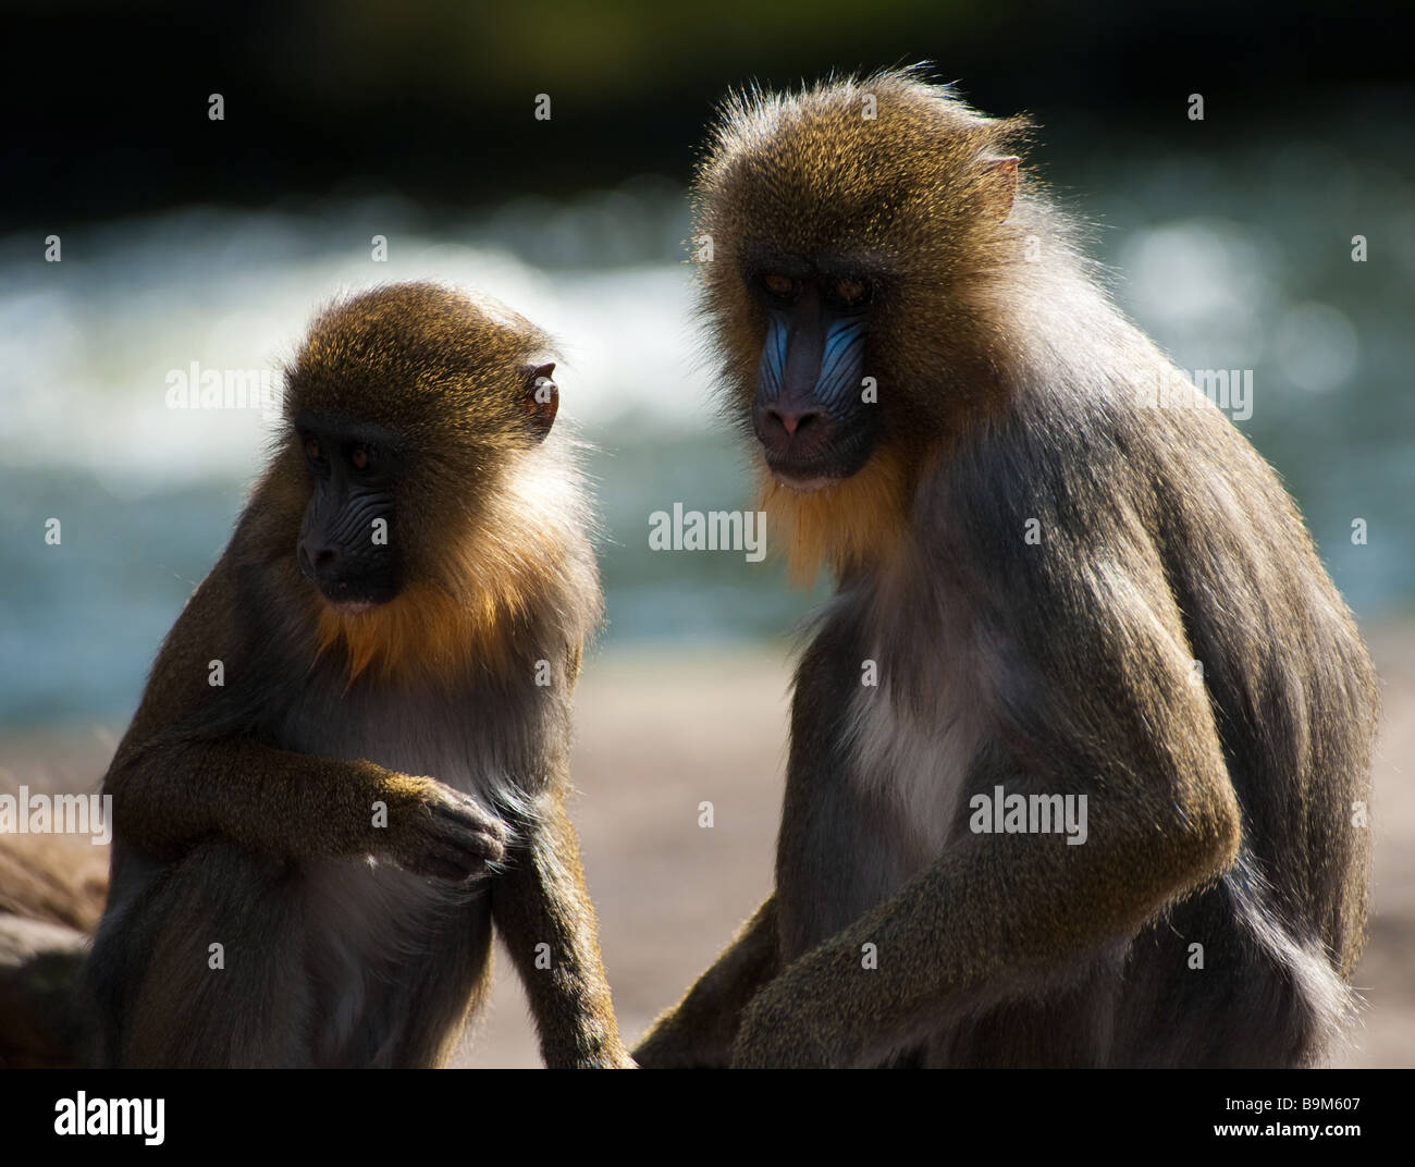
<instances>
[{"instance_id":1,"label":"nearly black blurred strip of background above the water","mask_svg":"<svg viewBox=\"0 0 1415 1167\"><path fill-rule=\"evenodd\" d=\"M1118 146L1204 95L1221 139L1409 102L1404 6L1312 0L52 3L8 6L13 228L191 201L266 205L361 182L426 207L686 181L727 85L934 61L1047 140ZM1346 7L1346 6L1341 6ZM1354 6L1353 6L1354 7ZM219 133L207 95L226 99ZM553 100L532 122L536 93ZM1241 117L1238 113L1241 112ZM536 129L535 137L525 130Z\"/></svg>"}]
</instances>

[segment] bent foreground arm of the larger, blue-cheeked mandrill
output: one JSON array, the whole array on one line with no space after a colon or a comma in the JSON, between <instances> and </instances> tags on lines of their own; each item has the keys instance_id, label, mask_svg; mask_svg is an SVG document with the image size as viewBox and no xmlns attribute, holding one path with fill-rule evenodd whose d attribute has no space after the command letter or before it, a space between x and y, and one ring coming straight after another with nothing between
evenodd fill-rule
<instances>
[{"instance_id":1,"label":"bent foreground arm of the larger, blue-cheeked mandrill","mask_svg":"<svg viewBox=\"0 0 1415 1167\"><path fill-rule=\"evenodd\" d=\"M1006 570L986 573L993 584L974 604L978 627L1015 662L1012 699L985 702L989 744L966 791L1085 795L1088 837L1071 846L1058 833L964 830L931 867L751 1001L733 1065L884 1061L920 1031L1084 973L1237 853L1237 798L1157 560L1135 547L1125 577L1105 562L1067 580L1044 556L1026 559L1020 540L990 546L1003 549L1007 562L995 566ZM1049 620L1013 615L1030 611ZM836 666L857 672L853 659L826 668ZM819 767L850 765L808 758L828 712L805 696L797 697L788 806L819 789ZM808 881L829 859L808 840L791 846L778 861L781 888Z\"/></svg>"}]
</instances>

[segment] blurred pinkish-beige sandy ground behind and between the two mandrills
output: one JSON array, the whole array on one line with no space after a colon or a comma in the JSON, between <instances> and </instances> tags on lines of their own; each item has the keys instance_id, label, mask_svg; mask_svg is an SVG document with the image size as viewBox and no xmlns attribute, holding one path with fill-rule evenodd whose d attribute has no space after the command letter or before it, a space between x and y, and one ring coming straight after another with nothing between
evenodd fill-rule
<instances>
[{"instance_id":1,"label":"blurred pinkish-beige sandy ground behind and between the two mandrills","mask_svg":"<svg viewBox=\"0 0 1415 1167\"><path fill-rule=\"evenodd\" d=\"M1337 1065L1415 1065L1415 629L1371 637L1385 683L1375 886L1357 983L1368 1009ZM620 1028L638 1037L771 887L790 663L784 654L603 654L579 693L572 813ZM0 738L0 788L91 789L120 727ZM712 828L699 826L710 802ZM98 854L92 854L98 852ZM102 852L76 852L83 864ZM539 1065L525 999L498 953L488 1014L458 1064Z\"/></svg>"}]
</instances>

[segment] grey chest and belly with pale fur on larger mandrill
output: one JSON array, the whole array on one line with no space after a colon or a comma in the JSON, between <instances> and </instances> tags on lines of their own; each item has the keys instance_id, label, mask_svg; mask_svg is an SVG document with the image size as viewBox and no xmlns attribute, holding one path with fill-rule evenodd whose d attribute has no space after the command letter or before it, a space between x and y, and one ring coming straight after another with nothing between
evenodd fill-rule
<instances>
[{"instance_id":1,"label":"grey chest and belly with pale fur on larger mandrill","mask_svg":"<svg viewBox=\"0 0 1415 1167\"><path fill-rule=\"evenodd\" d=\"M852 603L853 601L853 603ZM896 635L843 596L797 678L777 856L787 955L879 907L957 837L986 724L966 629ZM869 612L891 611L874 604ZM916 631L930 622L917 620Z\"/></svg>"}]
</instances>

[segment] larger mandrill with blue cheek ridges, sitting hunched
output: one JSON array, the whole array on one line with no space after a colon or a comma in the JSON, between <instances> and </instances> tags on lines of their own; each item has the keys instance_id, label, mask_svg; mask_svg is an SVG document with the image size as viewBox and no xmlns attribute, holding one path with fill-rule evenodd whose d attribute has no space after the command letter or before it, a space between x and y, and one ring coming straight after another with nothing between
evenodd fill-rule
<instances>
[{"instance_id":1,"label":"larger mandrill with blue cheek ridges, sitting hunched","mask_svg":"<svg viewBox=\"0 0 1415 1167\"><path fill-rule=\"evenodd\" d=\"M642 1065L1290 1067L1350 1011L1370 659L1276 475L1019 177L1023 129L913 72L717 126L726 403L838 591L775 893Z\"/></svg>"}]
</instances>

